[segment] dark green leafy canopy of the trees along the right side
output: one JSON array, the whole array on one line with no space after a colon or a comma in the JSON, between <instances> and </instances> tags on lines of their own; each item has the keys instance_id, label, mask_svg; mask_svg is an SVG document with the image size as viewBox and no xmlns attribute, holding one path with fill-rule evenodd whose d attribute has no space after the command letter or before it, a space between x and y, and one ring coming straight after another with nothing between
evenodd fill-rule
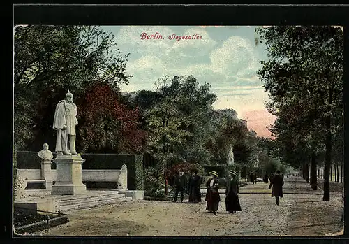
<instances>
[{"instance_id":1,"label":"dark green leafy canopy of the trees along the right side","mask_svg":"<svg viewBox=\"0 0 349 244\"><path fill-rule=\"evenodd\" d=\"M273 154L299 167L313 152L320 155L329 147L329 129L341 134L343 34L334 27L270 27L257 32L269 52L258 76L271 94L267 109L277 117L271 128L276 136ZM341 153L339 144L332 148Z\"/></svg>"}]
</instances>

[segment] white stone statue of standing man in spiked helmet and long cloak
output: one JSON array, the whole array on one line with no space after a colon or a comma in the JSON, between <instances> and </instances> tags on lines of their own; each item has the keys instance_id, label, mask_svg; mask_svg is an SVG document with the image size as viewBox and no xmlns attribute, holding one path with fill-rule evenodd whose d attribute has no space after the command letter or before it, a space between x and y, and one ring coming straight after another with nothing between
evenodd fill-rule
<instances>
[{"instance_id":1,"label":"white stone statue of standing man in spiked helmet and long cloak","mask_svg":"<svg viewBox=\"0 0 349 244\"><path fill-rule=\"evenodd\" d=\"M59 101L54 112L53 129L57 130L57 155L77 155L75 150L75 126L77 108L73 103L73 94L68 90L66 99ZM69 150L68 150L69 141Z\"/></svg>"}]
</instances>

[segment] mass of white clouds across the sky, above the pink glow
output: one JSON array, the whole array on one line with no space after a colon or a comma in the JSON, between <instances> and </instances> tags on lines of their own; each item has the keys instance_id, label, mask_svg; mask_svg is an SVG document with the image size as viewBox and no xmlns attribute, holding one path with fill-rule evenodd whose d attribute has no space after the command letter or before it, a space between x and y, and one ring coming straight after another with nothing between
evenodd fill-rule
<instances>
[{"instance_id":1,"label":"mass of white clouds across the sky, above the pink glow","mask_svg":"<svg viewBox=\"0 0 349 244\"><path fill-rule=\"evenodd\" d=\"M153 89L156 79L163 75L193 75L200 84L211 84L218 96L216 109L233 108L239 117L246 111L265 109L268 96L256 75L260 68L258 50L248 38L230 36L218 46L207 29L190 27L181 35L200 34L202 41L141 41L142 31L149 34L158 31L163 36L174 33L168 27L123 27L119 31L119 43L132 46L143 55L128 62L127 71L133 78L131 85L122 87L123 90Z\"/></svg>"}]
</instances>

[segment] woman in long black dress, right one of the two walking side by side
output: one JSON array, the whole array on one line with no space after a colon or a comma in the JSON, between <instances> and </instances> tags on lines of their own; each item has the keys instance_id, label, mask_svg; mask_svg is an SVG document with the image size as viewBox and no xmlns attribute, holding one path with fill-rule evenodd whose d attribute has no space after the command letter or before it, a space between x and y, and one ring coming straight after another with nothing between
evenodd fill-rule
<instances>
[{"instance_id":1,"label":"woman in long black dress, right one of the two walking side by side","mask_svg":"<svg viewBox=\"0 0 349 244\"><path fill-rule=\"evenodd\" d=\"M236 213L241 211L239 202L239 182L236 179L237 173L235 171L229 171L229 180L227 182L227 188L225 188L225 209L229 213Z\"/></svg>"}]
</instances>

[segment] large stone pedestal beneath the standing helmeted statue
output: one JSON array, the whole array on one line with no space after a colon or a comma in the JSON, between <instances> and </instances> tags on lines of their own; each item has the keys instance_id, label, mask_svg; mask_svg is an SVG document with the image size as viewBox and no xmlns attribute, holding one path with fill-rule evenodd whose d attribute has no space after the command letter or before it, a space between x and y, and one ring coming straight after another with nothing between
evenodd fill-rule
<instances>
[{"instance_id":1,"label":"large stone pedestal beneath the standing helmeted statue","mask_svg":"<svg viewBox=\"0 0 349 244\"><path fill-rule=\"evenodd\" d=\"M86 193L82 184L82 163L80 155L58 155L52 159L57 165L56 183L52 185L52 195L77 195Z\"/></svg>"}]
</instances>

